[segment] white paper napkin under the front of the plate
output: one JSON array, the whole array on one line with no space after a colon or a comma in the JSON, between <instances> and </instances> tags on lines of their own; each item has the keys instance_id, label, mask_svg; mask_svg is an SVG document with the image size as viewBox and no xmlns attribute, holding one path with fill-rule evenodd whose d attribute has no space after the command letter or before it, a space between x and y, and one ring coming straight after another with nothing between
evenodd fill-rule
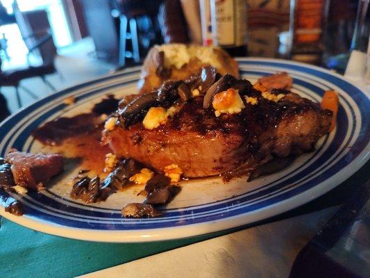
<instances>
[{"instance_id":1,"label":"white paper napkin under the front of the plate","mask_svg":"<svg viewBox=\"0 0 370 278\"><path fill-rule=\"evenodd\" d=\"M244 229L81 277L288 277L298 252L337 209Z\"/></svg>"}]
</instances>

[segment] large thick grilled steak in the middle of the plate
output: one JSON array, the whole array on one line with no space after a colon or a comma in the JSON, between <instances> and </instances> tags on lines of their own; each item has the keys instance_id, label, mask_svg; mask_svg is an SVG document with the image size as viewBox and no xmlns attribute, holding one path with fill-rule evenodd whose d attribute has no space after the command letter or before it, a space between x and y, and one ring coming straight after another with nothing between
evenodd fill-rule
<instances>
[{"instance_id":1,"label":"large thick grilled steak in the middle of the plate","mask_svg":"<svg viewBox=\"0 0 370 278\"><path fill-rule=\"evenodd\" d=\"M156 129L145 129L141 121L117 125L103 140L117 156L160 172L174 163L185 177L206 177L240 167L252 172L273 158L310 152L328 132L330 111L292 92L271 101L245 82L227 83L228 88L242 88L245 108L240 113L216 117L212 107L203 108L207 95L200 95L178 104L179 111ZM225 84L215 87L227 89ZM244 97L257 99L257 104L246 103Z\"/></svg>"}]
</instances>

